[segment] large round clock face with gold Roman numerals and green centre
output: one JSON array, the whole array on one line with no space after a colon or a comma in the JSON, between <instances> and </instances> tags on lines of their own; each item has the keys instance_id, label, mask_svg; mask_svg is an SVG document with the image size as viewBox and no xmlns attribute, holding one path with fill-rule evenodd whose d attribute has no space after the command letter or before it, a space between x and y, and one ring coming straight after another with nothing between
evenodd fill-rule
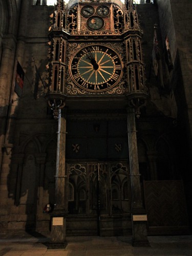
<instances>
[{"instance_id":1,"label":"large round clock face with gold Roman numerals and green centre","mask_svg":"<svg viewBox=\"0 0 192 256\"><path fill-rule=\"evenodd\" d=\"M75 84L89 92L104 92L113 88L122 76L119 55L103 45L80 49L70 60L70 75Z\"/></svg>"}]
</instances>

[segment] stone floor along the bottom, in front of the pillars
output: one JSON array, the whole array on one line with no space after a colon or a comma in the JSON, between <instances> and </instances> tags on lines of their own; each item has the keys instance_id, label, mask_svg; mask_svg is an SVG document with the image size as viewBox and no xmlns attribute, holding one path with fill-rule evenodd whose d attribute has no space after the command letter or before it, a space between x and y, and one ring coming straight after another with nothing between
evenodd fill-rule
<instances>
[{"instance_id":1,"label":"stone floor along the bottom, in front of the pillars","mask_svg":"<svg viewBox=\"0 0 192 256\"><path fill-rule=\"evenodd\" d=\"M131 237L68 237L66 249L47 249L46 237L17 236L0 239L0 256L192 256L192 236L149 236L151 247L136 248Z\"/></svg>"}]
</instances>

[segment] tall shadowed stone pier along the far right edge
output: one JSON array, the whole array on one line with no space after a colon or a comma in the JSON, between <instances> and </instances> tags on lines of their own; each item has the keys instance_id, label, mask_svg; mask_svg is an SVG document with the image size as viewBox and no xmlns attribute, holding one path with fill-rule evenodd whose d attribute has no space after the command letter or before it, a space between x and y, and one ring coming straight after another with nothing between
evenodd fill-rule
<instances>
[{"instance_id":1,"label":"tall shadowed stone pier along the far right edge","mask_svg":"<svg viewBox=\"0 0 192 256\"><path fill-rule=\"evenodd\" d=\"M180 152L183 159L182 177L189 212L191 211L191 152L192 152L192 3L189 0L157 0L161 23L162 38L169 37L170 51L174 62L174 69L170 72L170 87L173 88L178 106L178 130L181 133Z\"/></svg>"}]
</instances>

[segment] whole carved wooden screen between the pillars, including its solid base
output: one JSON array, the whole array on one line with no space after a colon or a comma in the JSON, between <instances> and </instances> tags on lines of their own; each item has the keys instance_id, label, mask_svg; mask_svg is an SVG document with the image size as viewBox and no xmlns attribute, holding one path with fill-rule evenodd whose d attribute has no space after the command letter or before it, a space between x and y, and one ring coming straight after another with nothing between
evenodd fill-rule
<instances>
[{"instance_id":1,"label":"whole carved wooden screen between the pillars, including its solid base","mask_svg":"<svg viewBox=\"0 0 192 256\"><path fill-rule=\"evenodd\" d=\"M131 233L126 162L68 163L68 236Z\"/></svg>"}]
</instances>

